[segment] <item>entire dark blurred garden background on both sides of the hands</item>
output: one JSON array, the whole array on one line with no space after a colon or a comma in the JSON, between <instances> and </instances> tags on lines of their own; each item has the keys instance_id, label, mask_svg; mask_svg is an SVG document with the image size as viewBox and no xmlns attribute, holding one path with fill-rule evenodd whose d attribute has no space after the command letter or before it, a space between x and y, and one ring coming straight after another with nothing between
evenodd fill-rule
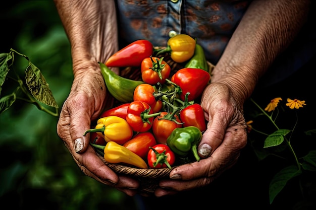
<instances>
[{"instance_id":1,"label":"entire dark blurred garden background on both sides of the hands","mask_svg":"<svg viewBox=\"0 0 316 210\"><path fill-rule=\"evenodd\" d=\"M0 7L0 53L8 53L13 48L27 55L41 70L61 109L69 94L73 74L70 45L54 3L14 0L7 1L6 5ZM306 100L308 106L300 110L300 114L308 116L309 120L300 118L297 128L300 131L316 128L314 77L306 77L315 69L313 60L300 75L254 96L259 104L264 104L262 106L275 97ZM23 77L26 66L19 66L16 71ZM253 109L251 106L249 110ZM0 114L0 203L12 209L141 209L143 206L137 197L129 197L81 172L57 135L57 121L58 117L22 101ZM299 141L295 149L301 150L300 157L306 150L315 150L314 135L296 137ZM316 184L312 177L315 173L304 183L308 186L308 191L304 192L306 197L301 196L302 185L293 180L275 202L269 204L270 180L285 164L274 158L259 162L248 145L238 163L209 187L193 190L193 194L180 193L170 199L148 198L147 204L150 209L185 208L193 203L195 209L202 208L205 203L212 209L314 209Z\"/></svg>"}]
</instances>

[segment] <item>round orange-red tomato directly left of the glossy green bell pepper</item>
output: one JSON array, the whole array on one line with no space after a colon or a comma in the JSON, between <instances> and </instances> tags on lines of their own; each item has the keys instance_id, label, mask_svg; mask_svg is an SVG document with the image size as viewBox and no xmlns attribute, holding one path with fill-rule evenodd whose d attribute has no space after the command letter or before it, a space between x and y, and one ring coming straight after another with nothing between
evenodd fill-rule
<instances>
[{"instance_id":1,"label":"round orange-red tomato directly left of the glossy green bell pepper","mask_svg":"<svg viewBox=\"0 0 316 210\"><path fill-rule=\"evenodd\" d=\"M152 122L152 132L156 142L166 145L168 136L177 127L182 127L182 122L178 115L172 116L171 113L161 112Z\"/></svg>"}]
</instances>

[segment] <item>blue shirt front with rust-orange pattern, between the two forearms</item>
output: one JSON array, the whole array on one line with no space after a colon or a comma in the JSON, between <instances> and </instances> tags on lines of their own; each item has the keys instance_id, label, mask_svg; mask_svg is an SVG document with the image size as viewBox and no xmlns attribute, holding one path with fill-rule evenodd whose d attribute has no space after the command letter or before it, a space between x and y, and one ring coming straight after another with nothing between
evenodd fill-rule
<instances>
[{"instance_id":1,"label":"blue shirt front with rust-orange pattern, between the two forearms","mask_svg":"<svg viewBox=\"0 0 316 210\"><path fill-rule=\"evenodd\" d=\"M216 63L251 1L117 0L122 46L147 39L167 46L174 34L196 38Z\"/></svg>"}]
</instances>

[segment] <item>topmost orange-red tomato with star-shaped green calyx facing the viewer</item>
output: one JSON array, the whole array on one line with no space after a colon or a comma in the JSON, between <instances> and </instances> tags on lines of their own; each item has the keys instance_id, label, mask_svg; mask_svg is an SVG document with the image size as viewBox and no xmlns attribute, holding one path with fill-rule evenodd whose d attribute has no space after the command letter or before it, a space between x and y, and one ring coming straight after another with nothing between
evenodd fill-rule
<instances>
[{"instance_id":1,"label":"topmost orange-red tomato with star-shaped green calyx facing the viewer","mask_svg":"<svg viewBox=\"0 0 316 210\"><path fill-rule=\"evenodd\" d=\"M163 60L164 57L146 57L141 62L141 78L150 85L164 84L170 76L170 65Z\"/></svg>"}]
</instances>

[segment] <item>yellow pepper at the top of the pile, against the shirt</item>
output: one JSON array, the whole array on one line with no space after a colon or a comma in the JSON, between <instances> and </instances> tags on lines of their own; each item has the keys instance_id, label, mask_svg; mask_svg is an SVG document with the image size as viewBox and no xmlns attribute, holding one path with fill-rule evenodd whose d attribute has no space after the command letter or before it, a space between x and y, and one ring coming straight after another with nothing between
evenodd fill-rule
<instances>
[{"instance_id":1,"label":"yellow pepper at the top of the pile, against the shirt","mask_svg":"<svg viewBox=\"0 0 316 210\"><path fill-rule=\"evenodd\" d=\"M169 52L173 61L182 63L194 55L195 44L196 42L191 36L177 34L168 40L166 48L157 50L156 55Z\"/></svg>"}]
</instances>

